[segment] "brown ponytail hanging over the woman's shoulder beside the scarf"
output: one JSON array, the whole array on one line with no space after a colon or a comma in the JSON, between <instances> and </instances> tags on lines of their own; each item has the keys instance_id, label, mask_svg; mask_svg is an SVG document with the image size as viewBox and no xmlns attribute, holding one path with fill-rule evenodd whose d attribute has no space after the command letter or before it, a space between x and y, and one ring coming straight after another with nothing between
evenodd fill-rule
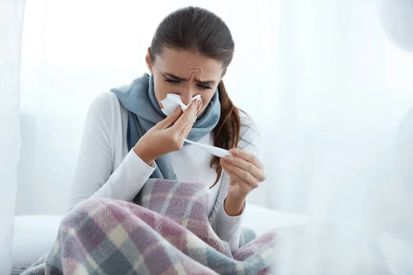
<instances>
[{"instance_id":1,"label":"brown ponytail hanging over the woman's shoulder beside the scarf","mask_svg":"<svg viewBox=\"0 0 413 275\"><path fill-rule=\"evenodd\" d=\"M234 106L228 94L226 94L222 80L218 84L218 93L220 96L221 116L218 125L213 129L213 145L226 150L237 148L238 142L240 142L241 130L240 110ZM218 183L222 174L220 157L213 157L211 168L215 168L217 178L210 189Z\"/></svg>"}]
</instances>

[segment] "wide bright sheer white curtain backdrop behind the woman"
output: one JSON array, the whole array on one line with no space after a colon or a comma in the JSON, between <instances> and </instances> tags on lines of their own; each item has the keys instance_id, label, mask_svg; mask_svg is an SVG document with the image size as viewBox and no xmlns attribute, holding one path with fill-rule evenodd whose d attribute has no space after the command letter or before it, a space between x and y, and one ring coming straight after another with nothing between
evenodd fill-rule
<instances>
[{"instance_id":1,"label":"wide bright sheer white curtain backdrop behind the woman","mask_svg":"<svg viewBox=\"0 0 413 275\"><path fill-rule=\"evenodd\" d=\"M146 71L156 25L184 5L233 32L224 81L260 127L268 175L250 201L408 229L395 137L413 103L413 56L388 41L375 0L30 1L17 214L64 212L89 103Z\"/></svg>"}]
</instances>

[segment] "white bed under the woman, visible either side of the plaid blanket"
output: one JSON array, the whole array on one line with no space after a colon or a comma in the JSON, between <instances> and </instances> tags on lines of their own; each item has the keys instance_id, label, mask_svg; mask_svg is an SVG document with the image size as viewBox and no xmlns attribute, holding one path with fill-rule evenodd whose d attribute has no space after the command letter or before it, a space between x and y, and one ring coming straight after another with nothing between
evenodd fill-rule
<instances>
[{"instance_id":1,"label":"white bed under the woman, visible either side of the plaid blanket","mask_svg":"<svg viewBox=\"0 0 413 275\"><path fill-rule=\"evenodd\" d=\"M62 217L15 217L12 274L20 274L52 248ZM311 217L283 213L250 203L246 207L243 224L260 235L271 229L282 230L294 225L306 225L314 220ZM385 258L383 261L392 274L413 274L411 245L387 234L379 236L379 245Z\"/></svg>"}]
</instances>

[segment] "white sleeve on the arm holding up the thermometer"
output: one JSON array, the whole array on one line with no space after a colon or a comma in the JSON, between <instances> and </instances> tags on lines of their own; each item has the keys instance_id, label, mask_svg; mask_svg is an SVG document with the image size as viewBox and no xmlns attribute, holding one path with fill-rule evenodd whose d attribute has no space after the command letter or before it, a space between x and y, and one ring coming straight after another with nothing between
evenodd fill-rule
<instances>
[{"instance_id":1,"label":"white sleeve on the arm holding up the thermometer","mask_svg":"<svg viewBox=\"0 0 413 275\"><path fill-rule=\"evenodd\" d=\"M260 134L257 126L247 116L242 116L241 122L241 140L238 148L248 153L257 155L258 144L260 142ZM224 172L222 174L217 200L215 201L215 206L211 216L209 217L209 221L215 233L220 237L220 239L222 239L222 241L228 242L231 252L234 252L240 246L241 222L246 206L244 205L242 214L239 216L231 217L226 214L224 210L224 201L226 195L228 194L229 181L229 175Z\"/></svg>"}]
</instances>

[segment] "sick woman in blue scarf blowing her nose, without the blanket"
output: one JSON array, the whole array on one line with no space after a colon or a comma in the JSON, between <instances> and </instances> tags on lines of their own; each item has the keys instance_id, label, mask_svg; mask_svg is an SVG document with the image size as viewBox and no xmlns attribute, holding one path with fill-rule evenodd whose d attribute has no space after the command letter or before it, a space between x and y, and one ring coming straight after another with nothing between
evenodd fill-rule
<instances>
[{"instance_id":1,"label":"sick woman in blue scarf blowing her nose, without the blanket","mask_svg":"<svg viewBox=\"0 0 413 275\"><path fill-rule=\"evenodd\" d=\"M70 209L89 197L132 201L149 177L202 182L210 186L211 225L235 250L246 197L265 175L257 129L222 82L233 52L229 28L212 12L189 7L169 14L147 51L151 75L92 102ZM165 115L167 94L189 107ZM193 100L197 95L201 100ZM231 149L232 156L213 157L180 138Z\"/></svg>"}]
</instances>

